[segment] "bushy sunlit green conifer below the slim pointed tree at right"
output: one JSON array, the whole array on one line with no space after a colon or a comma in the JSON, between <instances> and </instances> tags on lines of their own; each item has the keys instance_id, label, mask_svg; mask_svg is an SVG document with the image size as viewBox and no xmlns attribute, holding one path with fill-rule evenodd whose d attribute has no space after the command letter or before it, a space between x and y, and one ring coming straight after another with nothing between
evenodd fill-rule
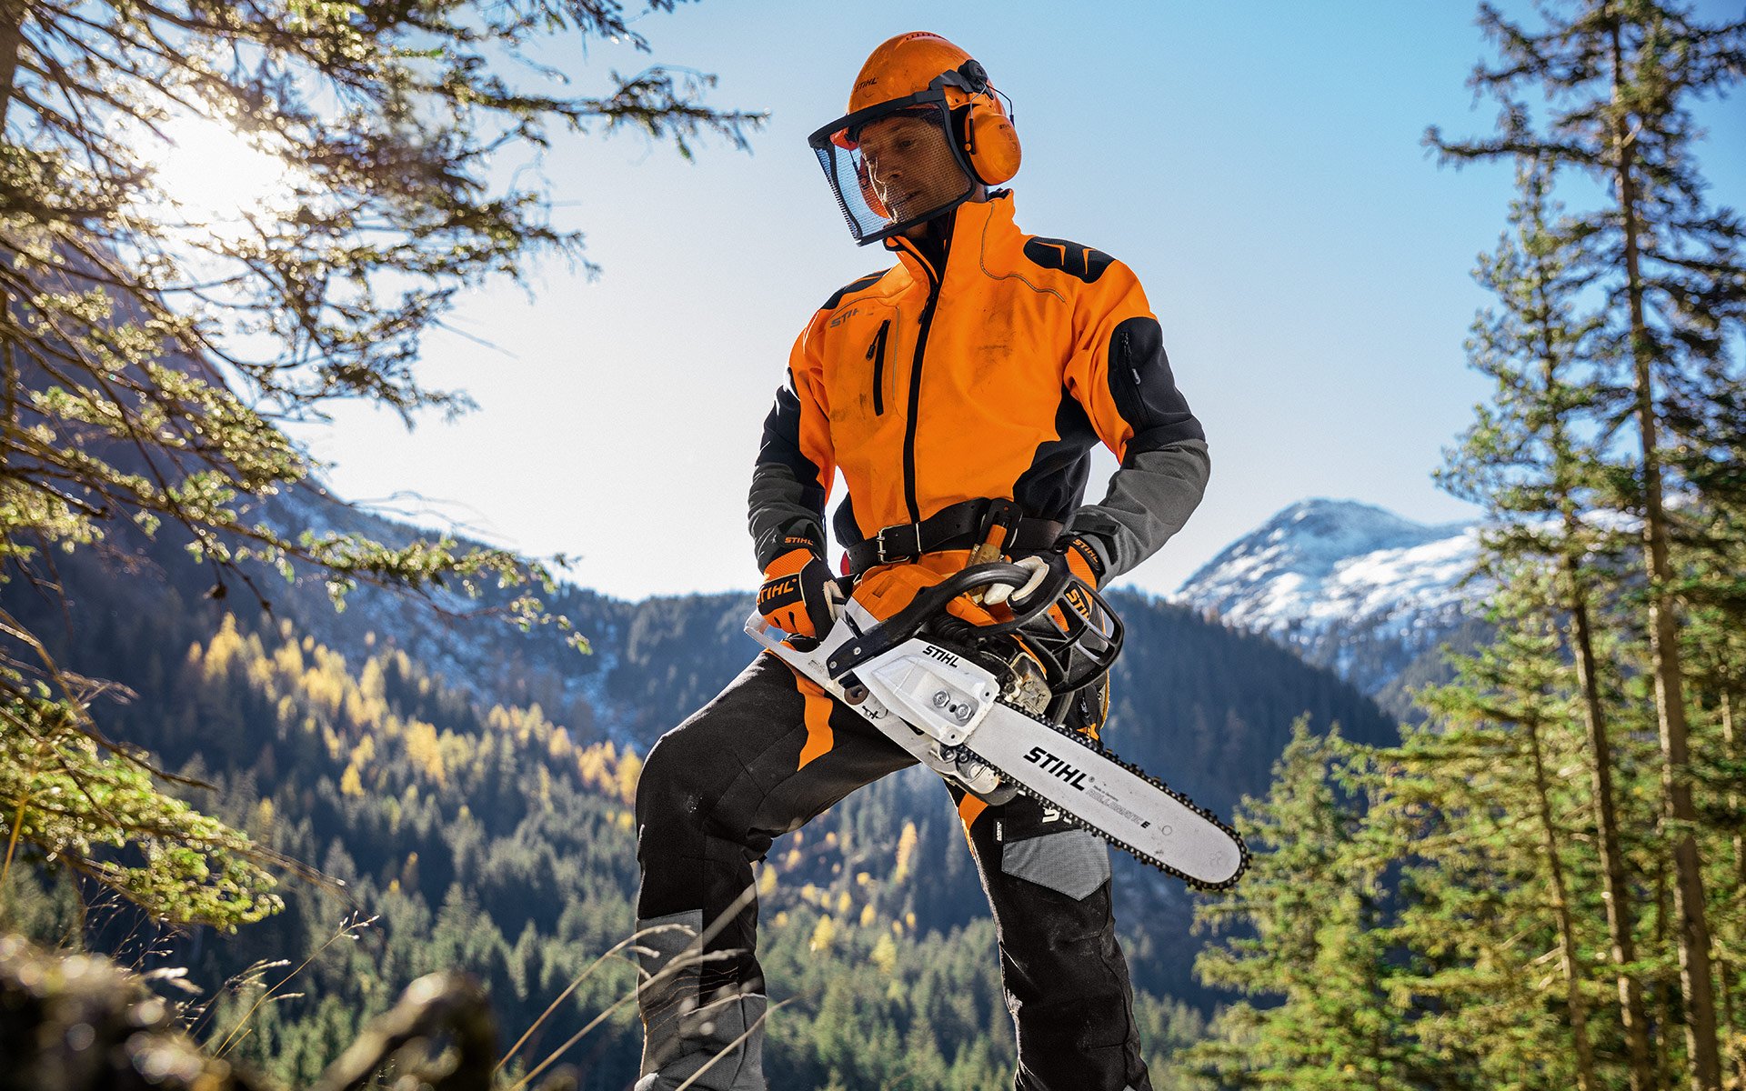
<instances>
[{"instance_id":1,"label":"bushy sunlit green conifer below the slim pointed tree at right","mask_svg":"<svg viewBox=\"0 0 1746 1091\"><path fill-rule=\"evenodd\" d=\"M1400 988L1435 1012L1416 1033L1468 1044L1482 1086L1592 1091L1610 1081L1587 972L1592 869L1571 829L1587 799L1557 775L1584 738L1540 578L1516 573L1489 611L1498 639L1423 693L1430 723L1378 756L1369 824L1407 861L1392 936L1421 976Z\"/></svg>"}]
</instances>

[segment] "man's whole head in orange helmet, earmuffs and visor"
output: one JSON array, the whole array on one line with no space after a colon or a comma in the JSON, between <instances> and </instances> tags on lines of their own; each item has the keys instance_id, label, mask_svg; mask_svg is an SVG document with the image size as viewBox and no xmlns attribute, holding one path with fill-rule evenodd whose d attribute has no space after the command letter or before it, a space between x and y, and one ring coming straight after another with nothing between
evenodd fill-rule
<instances>
[{"instance_id":1,"label":"man's whole head in orange helmet, earmuffs and visor","mask_svg":"<svg viewBox=\"0 0 1746 1091\"><path fill-rule=\"evenodd\" d=\"M856 243L932 220L1018 173L1018 133L988 72L934 33L873 51L849 113L808 138Z\"/></svg>"}]
</instances>

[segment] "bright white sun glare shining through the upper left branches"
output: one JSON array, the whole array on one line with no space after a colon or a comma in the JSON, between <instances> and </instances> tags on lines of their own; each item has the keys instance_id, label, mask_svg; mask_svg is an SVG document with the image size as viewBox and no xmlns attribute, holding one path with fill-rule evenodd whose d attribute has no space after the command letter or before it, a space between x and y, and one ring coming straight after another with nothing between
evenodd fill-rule
<instances>
[{"instance_id":1,"label":"bright white sun glare shining through the upper left branches","mask_svg":"<svg viewBox=\"0 0 1746 1091\"><path fill-rule=\"evenodd\" d=\"M257 150L229 126L178 117L162 126L168 141L152 155L157 185L176 216L218 234L241 230L246 216L290 206L290 168Z\"/></svg>"}]
</instances>

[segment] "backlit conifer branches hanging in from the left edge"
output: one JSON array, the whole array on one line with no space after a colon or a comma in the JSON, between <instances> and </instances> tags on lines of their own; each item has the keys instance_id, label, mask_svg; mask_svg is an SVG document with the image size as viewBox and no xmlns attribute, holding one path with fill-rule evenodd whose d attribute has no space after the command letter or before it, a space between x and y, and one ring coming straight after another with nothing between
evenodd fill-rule
<instances>
[{"instance_id":1,"label":"backlit conifer branches hanging in from the left edge","mask_svg":"<svg viewBox=\"0 0 1746 1091\"><path fill-rule=\"evenodd\" d=\"M674 0L651 0L670 10ZM0 0L0 564L56 592L63 550L171 534L213 594L264 573L433 595L550 574L452 538L286 532L260 504L311 475L279 421L361 398L410 421L466 408L417 377L421 335L459 288L580 257L538 175L557 131L634 129L683 155L744 143L758 117L702 101L709 77L648 68L599 94L529 59L564 35L646 42L616 0L306 3ZM272 208L213 230L154 175L185 119L283 162ZM435 595L433 595L435 597ZM503 613L566 625L534 594ZM271 909L237 831L176 810L89 712L101 686L0 616L0 810L23 841L180 920ZM140 845L143 875L107 852ZM105 848L108 847L108 848ZM129 878L133 875L133 878Z\"/></svg>"}]
</instances>

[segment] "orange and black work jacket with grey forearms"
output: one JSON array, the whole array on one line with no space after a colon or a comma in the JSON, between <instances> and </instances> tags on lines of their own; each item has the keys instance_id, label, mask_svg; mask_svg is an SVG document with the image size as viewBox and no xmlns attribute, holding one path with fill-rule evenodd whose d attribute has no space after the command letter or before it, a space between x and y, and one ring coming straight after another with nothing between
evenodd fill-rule
<instances>
[{"instance_id":1,"label":"orange and black work jacket with grey forearms","mask_svg":"<svg viewBox=\"0 0 1746 1091\"><path fill-rule=\"evenodd\" d=\"M796 339L753 475L760 566L794 538L824 552L836 470L843 545L1002 497L1093 541L1105 581L1200 503L1205 431L1133 272L1021 232L1007 190L952 215L943 262L887 239L897 265L838 290ZM1081 508L1096 442L1121 470Z\"/></svg>"}]
</instances>

